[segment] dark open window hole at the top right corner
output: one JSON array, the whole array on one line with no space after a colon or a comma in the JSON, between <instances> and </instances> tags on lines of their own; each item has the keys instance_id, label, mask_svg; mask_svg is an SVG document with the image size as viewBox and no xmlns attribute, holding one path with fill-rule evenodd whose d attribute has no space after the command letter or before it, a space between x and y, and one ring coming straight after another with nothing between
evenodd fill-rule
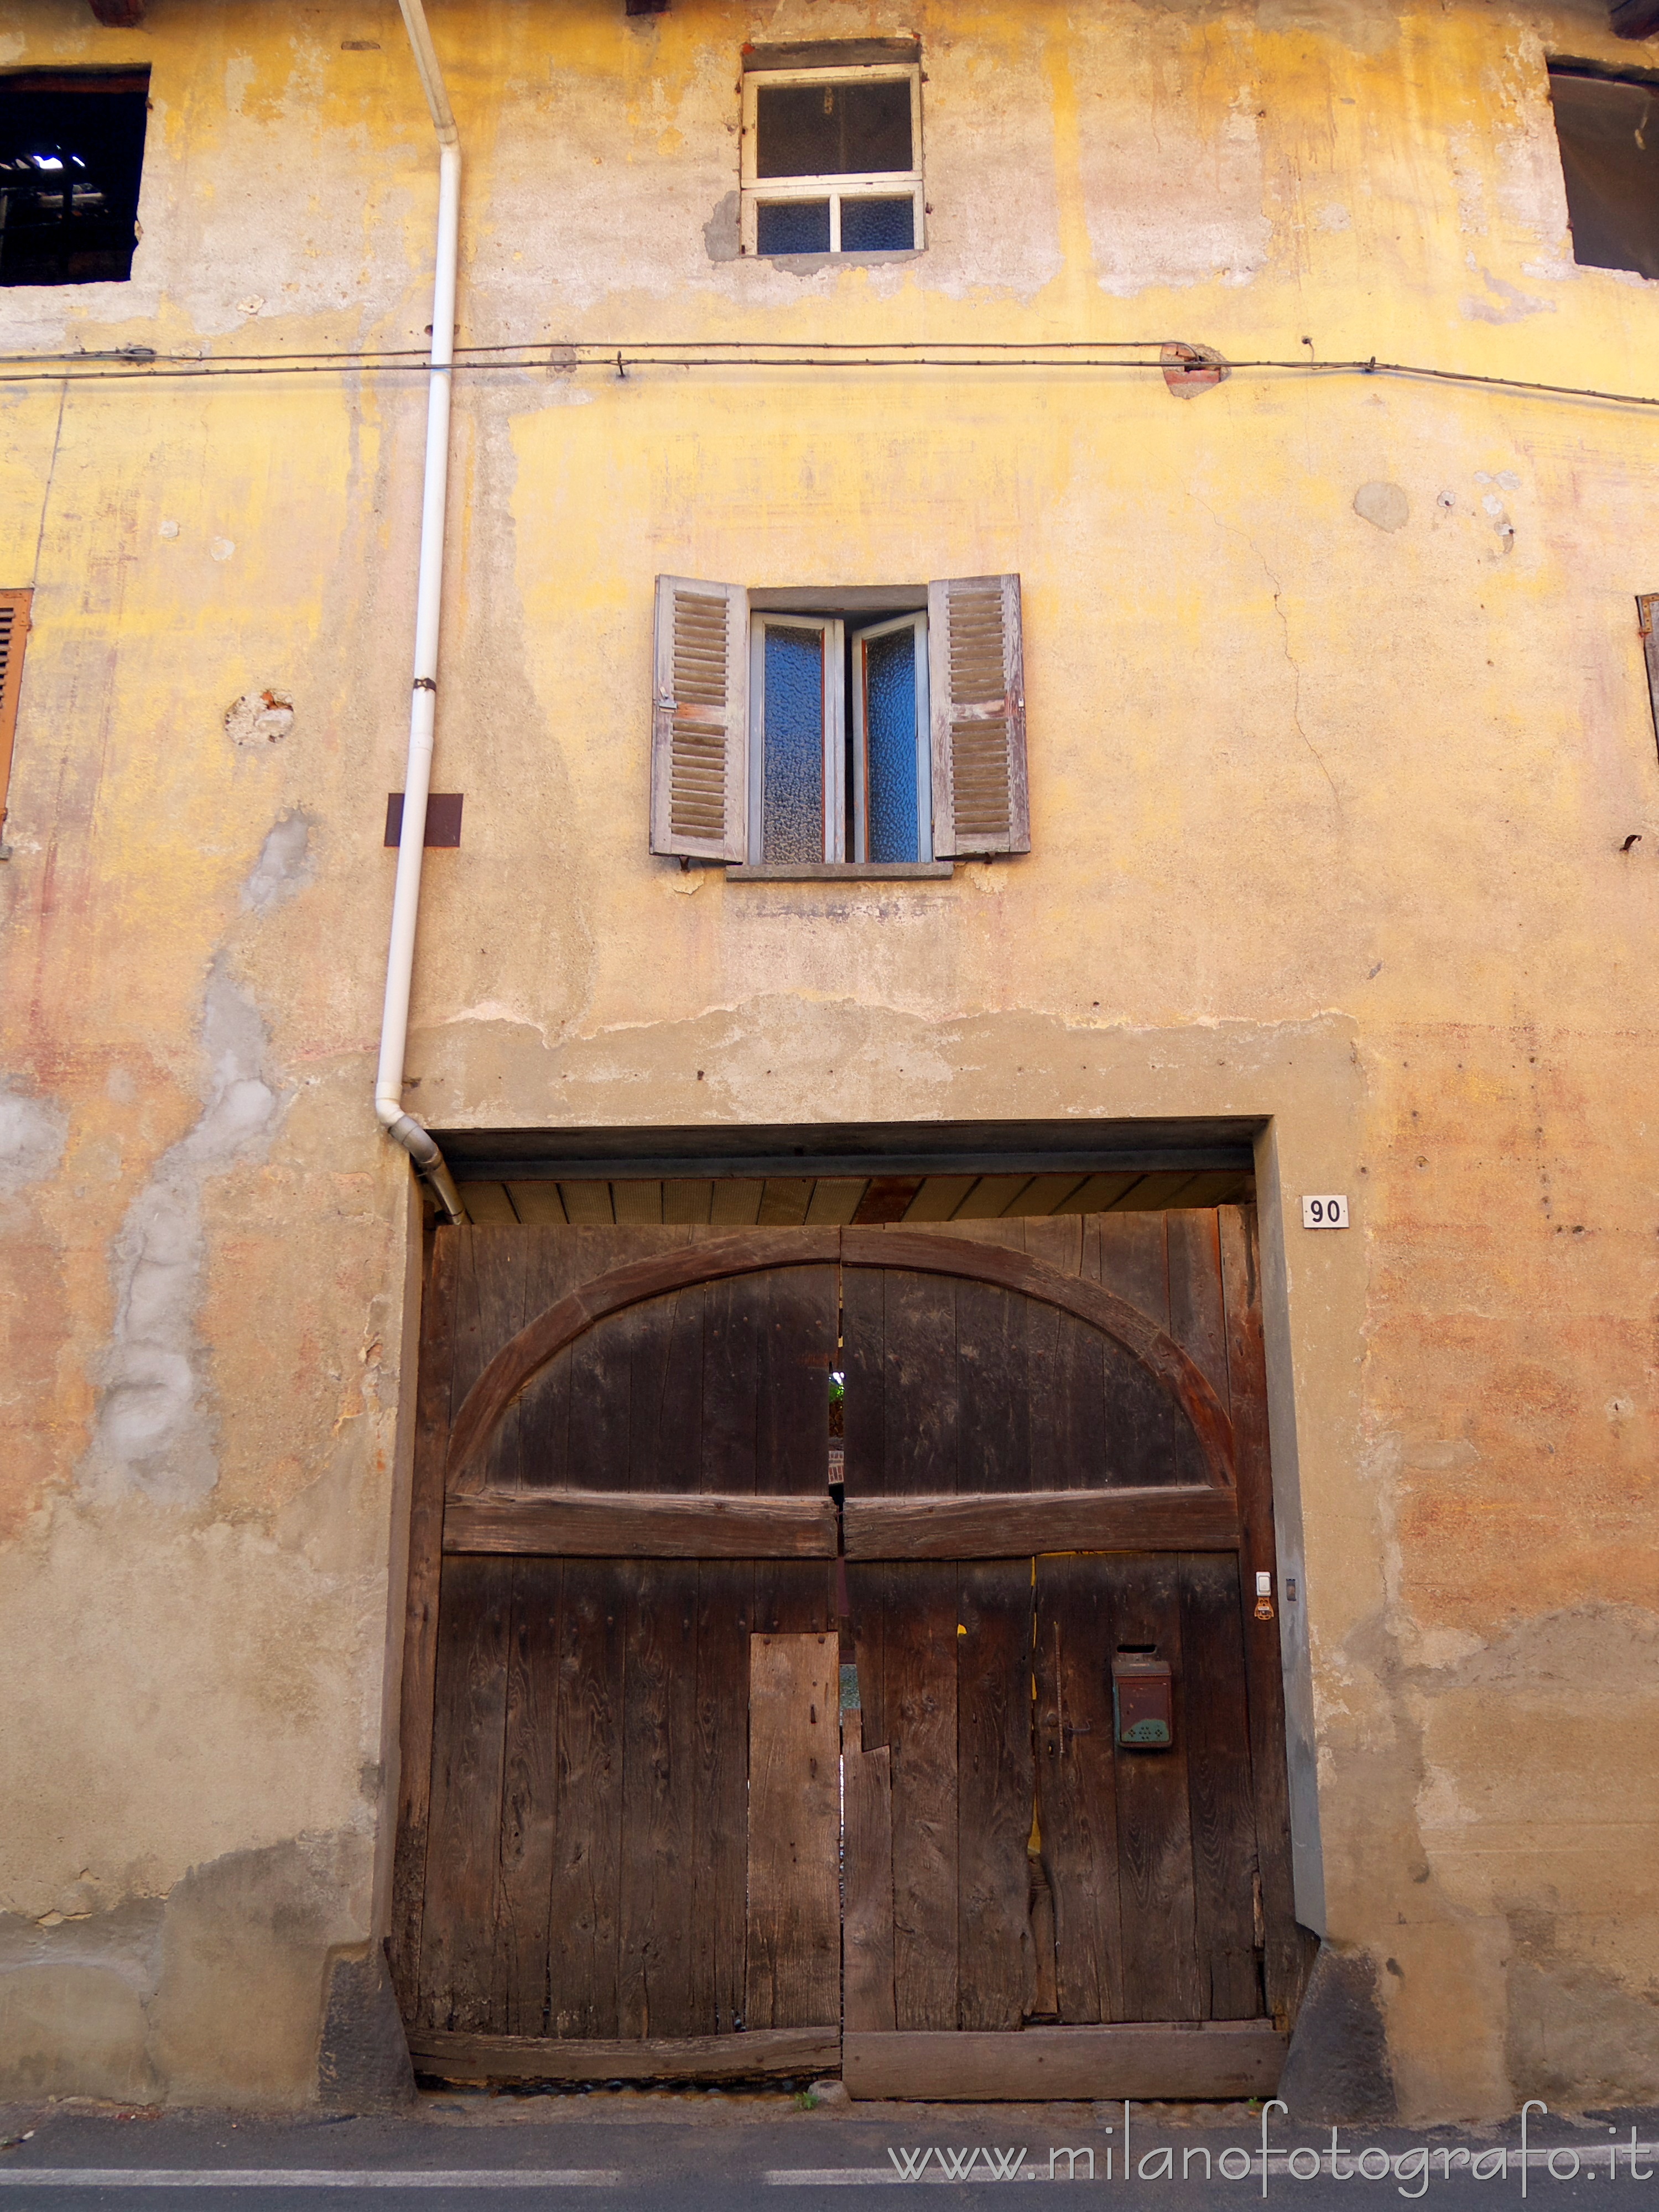
<instances>
[{"instance_id":1,"label":"dark open window hole at the top right corner","mask_svg":"<svg viewBox=\"0 0 1659 2212\"><path fill-rule=\"evenodd\" d=\"M1659 86L1551 69L1573 259L1659 276Z\"/></svg>"}]
</instances>

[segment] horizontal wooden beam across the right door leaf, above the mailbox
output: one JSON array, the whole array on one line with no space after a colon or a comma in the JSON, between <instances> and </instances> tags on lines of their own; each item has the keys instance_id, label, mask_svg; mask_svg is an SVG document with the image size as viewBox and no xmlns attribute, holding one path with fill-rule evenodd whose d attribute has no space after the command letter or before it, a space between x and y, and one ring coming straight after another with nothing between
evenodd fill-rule
<instances>
[{"instance_id":1,"label":"horizontal wooden beam across the right door leaf, above the mailbox","mask_svg":"<svg viewBox=\"0 0 1659 2212\"><path fill-rule=\"evenodd\" d=\"M1040 1551L1225 1551L1239 1500L1212 1489L849 1498L849 1559L1020 1559Z\"/></svg>"}]
</instances>

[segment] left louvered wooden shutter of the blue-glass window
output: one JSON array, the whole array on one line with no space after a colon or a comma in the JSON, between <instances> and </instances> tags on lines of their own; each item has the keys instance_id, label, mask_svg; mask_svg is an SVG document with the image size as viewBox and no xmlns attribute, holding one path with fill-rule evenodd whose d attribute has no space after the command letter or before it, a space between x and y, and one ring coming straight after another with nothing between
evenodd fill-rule
<instances>
[{"instance_id":1,"label":"left louvered wooden shutter of the blue-glass window","mask_svg":"<svg viewBox=\"0 0 1659 2212\"><path fill-rule=\"evenodd\" d=\"M750 597L657 577L650 849L748 860Z\"/></svg>"}]
</instances>

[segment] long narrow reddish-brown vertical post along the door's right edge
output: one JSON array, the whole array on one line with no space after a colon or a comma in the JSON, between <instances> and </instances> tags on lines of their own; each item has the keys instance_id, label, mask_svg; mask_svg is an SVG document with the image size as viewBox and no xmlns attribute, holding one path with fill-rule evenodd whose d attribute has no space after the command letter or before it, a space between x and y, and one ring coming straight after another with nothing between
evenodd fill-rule
<instances>
[{"instance_id":1,"label":"long narrow reddish-brown vertical post along the door's right edge","mask_svg":"<svg viewBox=\"0 0 1659 2212\"><path fill-rule=\"evenodd\" d=\"M1250 1765L1256 1783L1256 1845L1261 1854L1261 1909L1265 1924L1263 1978L1267 2011L1287 2024L1301 2002L1312 1938L1296 1927L1290 1878L1290 1781L1285 1774L1285 1677L1279 1621L1254 1617L1254 1575L1274 1575L1274 1604L1283 1606L1274 1548L1272 1464L1267 1455L1267 1363L1261 1340L1261 1265L1256 1208L1223 1206L1221 1285L1228 1310L1228 1380L1232 1440L1243 1520L1241 1630L1250 1686Z\"/></svg>"}]
</instances>

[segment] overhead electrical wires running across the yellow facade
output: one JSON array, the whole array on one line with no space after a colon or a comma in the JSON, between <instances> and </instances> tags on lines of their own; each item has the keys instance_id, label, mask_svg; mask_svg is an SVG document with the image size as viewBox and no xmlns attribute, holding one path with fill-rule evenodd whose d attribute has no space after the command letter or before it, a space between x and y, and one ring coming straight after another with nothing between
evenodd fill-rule
<instances>
[{"instance_id":1,"label":"overhead electrical wires running across the yellow facade","mask_svg":"<svg viewBox=\"0 0 1659 2212\"><path fill-rule=\"evenodd\" d=\"M1177 354L1179 347L1179 354ZM1152 349L1157 349L1152 354ZM1124 352L1146 352L1152 358L1102 358ZM1172 354L1175 358L1166 358ZM504 358L515 356L515 358ZM1062 356L1062 358L1055 358ZM4 354L0 383L153 383L157 378L223 378L223 376L376 376L425 374L427 352L396 349L316 349L296 354L148 354L144 347L106 354ZM529 372L577 374L608 369L626 378L630 369L1133 369L1186 372L1201 376L1219 369L1223 376L1290 374L1290 376L1400 376L1425 383L1467 385L1493 392L1533 392L1544 398L1597 400L1608 407L1659 407L1659 396L1646 392L1608 392L1599 385L1555 385L1524 376L1491 376L1482 369L1438 369L1411 361L1210 361L1186 338L993 338L993 341L825 341L790 338L695 338L695 341L546 341L502 345L458 345L456 369L469 374Z\"/></svg>"}]
</instances>

